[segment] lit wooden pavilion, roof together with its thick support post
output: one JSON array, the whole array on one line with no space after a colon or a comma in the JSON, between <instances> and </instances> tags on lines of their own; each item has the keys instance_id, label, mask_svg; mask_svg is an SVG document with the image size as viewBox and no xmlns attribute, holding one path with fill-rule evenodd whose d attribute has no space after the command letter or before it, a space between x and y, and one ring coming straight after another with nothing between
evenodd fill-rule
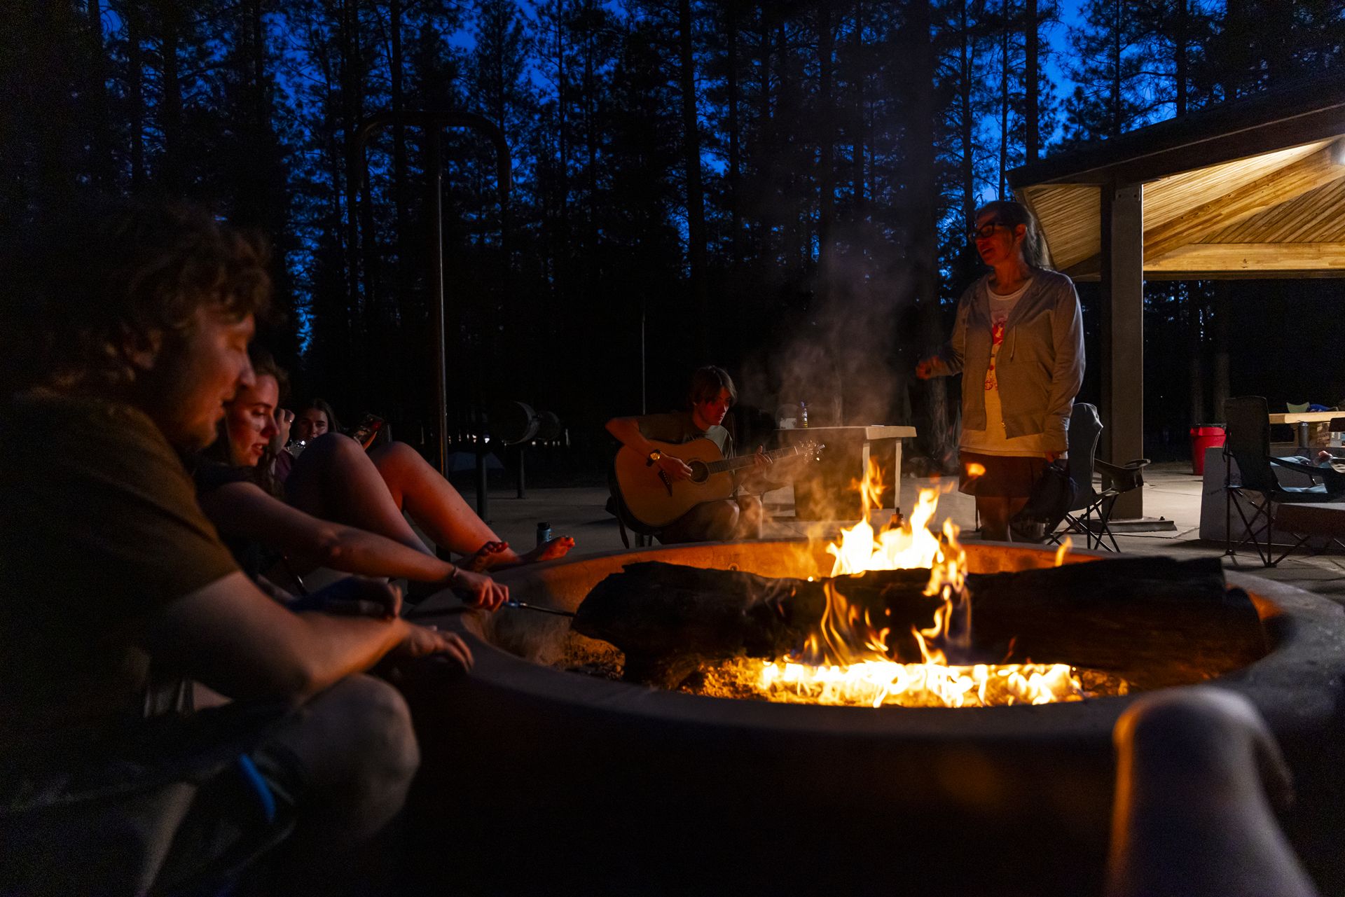
<instances>
[{"instance_id":1,"label":"lit wooden pavilion, roof together with its thick support post","mask_svg":"<svg viewBox=\"0 0 1345 897\"><path fill-rule=\"evenodd\" d=\"M1100 453L1145 455L1145 280L1345 276L1345 81L1284 85L1009 172L1052 265L1102 282ZM1118 518L1143 515L1142 491Z\"/></svg>"}]
</instances>

